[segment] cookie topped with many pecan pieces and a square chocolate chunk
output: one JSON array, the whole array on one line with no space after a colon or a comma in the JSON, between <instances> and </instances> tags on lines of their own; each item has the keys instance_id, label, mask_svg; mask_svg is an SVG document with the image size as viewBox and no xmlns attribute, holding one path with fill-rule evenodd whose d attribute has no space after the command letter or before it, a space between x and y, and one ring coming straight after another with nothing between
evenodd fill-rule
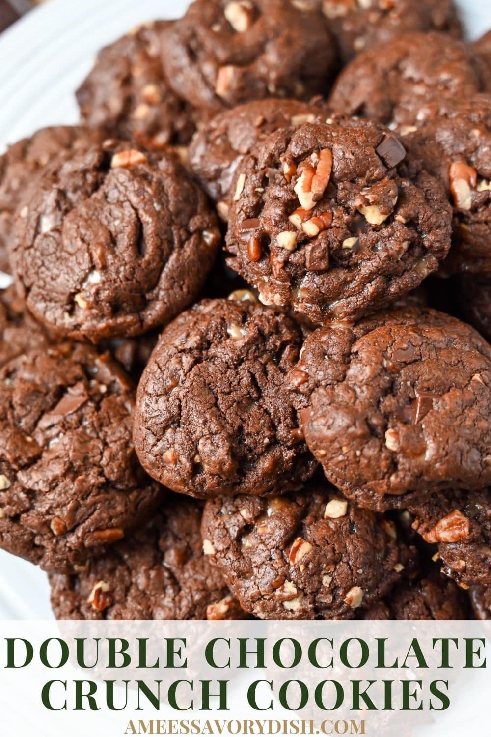
<instances>
[{"instance_id":1,"label":"cookie topped with many pecan pieces and a square chocolate chunk","mask_svg":"<svg viewBox=\"0 0 491 737\"><path fill-rule=\"evenodd\" d=\"M229 263L264 304L314 322L359 318L417 287L450 247L441 184L381 125L272 133L236 171Z\"/></svg>"}]
</instances>

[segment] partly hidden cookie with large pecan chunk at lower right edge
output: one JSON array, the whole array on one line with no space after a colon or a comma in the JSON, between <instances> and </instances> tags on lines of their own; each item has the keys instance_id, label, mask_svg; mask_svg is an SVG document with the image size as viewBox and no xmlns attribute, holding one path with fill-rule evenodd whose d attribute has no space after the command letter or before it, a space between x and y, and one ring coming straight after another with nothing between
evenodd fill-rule
<instances>
[{"instance_id":1,"label":"partly hidden cookie with large pecan chunk at lower right edge","mask_svg":"<svg viewBox=\"0 0 491 737\"><path fill-rule=\"evenodd\" d=\"M438 544L444 573L466 587L491 585L490 489L438 492L409 511L415 518L413 529L426 542Z\"/></svg>"}]
</instances>

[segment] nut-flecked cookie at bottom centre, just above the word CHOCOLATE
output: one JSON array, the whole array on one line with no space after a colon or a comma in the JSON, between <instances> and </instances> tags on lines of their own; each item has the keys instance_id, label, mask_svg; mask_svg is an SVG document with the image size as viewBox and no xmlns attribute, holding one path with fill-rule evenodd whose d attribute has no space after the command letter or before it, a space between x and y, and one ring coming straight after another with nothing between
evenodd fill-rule
<instances>
[{"instance_id":1,"label":"nut-flecked cookie at bottom centre, just above the word CHOCOLATE","mask_svg":"<svg viewBox=\"0 0 491 737\"><path fill-rule=\"evenodd\" d=\"M408 551L392 528L324 484L208 501L203 550L256 617L350 619L400 578Z\"/></svg>"}]
</instances>

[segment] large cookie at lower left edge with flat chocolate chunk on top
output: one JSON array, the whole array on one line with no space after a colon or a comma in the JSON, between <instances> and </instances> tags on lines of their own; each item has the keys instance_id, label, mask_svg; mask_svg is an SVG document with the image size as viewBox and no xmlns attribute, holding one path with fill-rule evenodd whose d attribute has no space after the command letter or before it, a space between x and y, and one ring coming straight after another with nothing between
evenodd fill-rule
<instances>
[{"instance_id":1,"label":"large cookie at lower left edge with flat chocolate chunk on top","mask_svg":"<svg viewBox=\"0 0 491 737\"><path fill-rule=\"evenodd\" d=\"M1 368L1 548L65 572L145 521L160 488L138 464L133 407L119 366L82 344Z\"/></svg>"}]
</instances>

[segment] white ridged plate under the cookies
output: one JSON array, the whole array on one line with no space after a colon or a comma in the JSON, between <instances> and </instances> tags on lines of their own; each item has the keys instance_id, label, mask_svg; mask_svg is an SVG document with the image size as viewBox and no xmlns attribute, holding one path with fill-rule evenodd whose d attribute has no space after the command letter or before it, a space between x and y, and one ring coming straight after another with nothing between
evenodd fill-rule
<instances>
[{"instance_id":1,"label":"white ridged plate under the cookies","mask_svg":"<svg viewBox=\"0 0 491 737\"><path fill-rule=\"evenodd\" d=\"M491 27L487 0L462 0L470 38ZM52 0L0 36L0 150L44 125L77 122L74 90L96 52L136 24L182 15L186 0ZM48 619L38 568L0 551L0 619Z\"/></svg>"}]
</instances>

